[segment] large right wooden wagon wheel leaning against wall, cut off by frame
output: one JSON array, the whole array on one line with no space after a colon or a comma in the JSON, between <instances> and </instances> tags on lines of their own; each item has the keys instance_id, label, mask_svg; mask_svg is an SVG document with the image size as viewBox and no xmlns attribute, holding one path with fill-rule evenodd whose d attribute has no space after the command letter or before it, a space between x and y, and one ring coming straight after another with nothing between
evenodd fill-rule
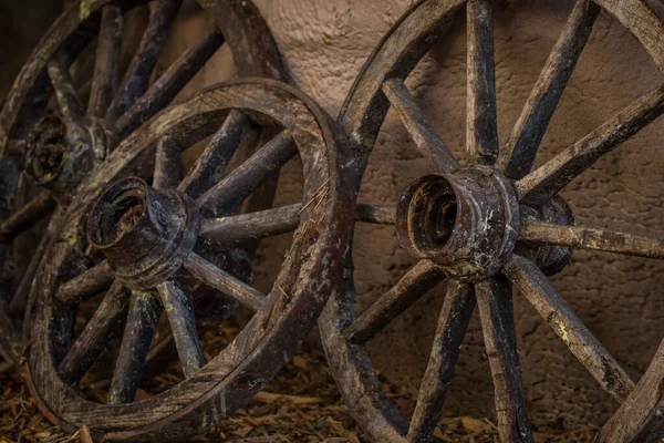
<instances>
[{"instance_id":1,"label":"large right wooden wagon wheel leaning against wall, cut off by frame","mask_svg":"<svg viewBox=\"0 0 664 443\"><path fill-rule=\"evenodd\" d=\"M546 274L561 270L574 248L664 258L664 244L606 229L573 226L558 192L594 162L664 113L654 89L598 130L532 171L535 156L601 9L636 37L664 69L664 25L641 1L579 0L504 146L496 117L494 32L489 1L423 0L383 38L356 79L340 122L354 143L359 188L392 106L434 168L393 207L363 212L395 225L400 244L418 259L363 312L355 305L353 267L320 320L328 360L344 401L376 442L426 442L443 413L459 347L478 308L495 385L500 437L532 442L523 399L512 313L512 285L525 296L620 410L596 436L602 442L660 441L664 435L664 342L639 385L556 292ZM418 107L405 79L454 23L467 19L467 164L460 166ZM361 212L360 212L361 213ZM405 420L382 391L366 342L427 290L448 279L428 365L414 414Z\"/></svg>"}]
</instances>

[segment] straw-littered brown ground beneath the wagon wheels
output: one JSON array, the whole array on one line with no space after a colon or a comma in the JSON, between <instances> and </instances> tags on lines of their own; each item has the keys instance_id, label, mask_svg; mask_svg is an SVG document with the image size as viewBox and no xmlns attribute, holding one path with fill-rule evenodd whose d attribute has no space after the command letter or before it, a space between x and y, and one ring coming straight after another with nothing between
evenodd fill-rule
<instances>
[{"instance_id":1,"label":"straw-littered brown ground beneath the wagon wheels","mask_svg":"<svg viewBox=\"0 0 664 443\"><path fill-rule=\"evenodd\" d=\"M222 331L219 332L221 334ZM214 334L204 337L204 350L214 351L219 340ZM206 349L207 348L207 349ZM160 389L180 380L175 365L155 379ZM413 399L400 394L387 381L387 394L404 408ZM0 363L0 443L6 442L82 442L80 431L69 435L49 423L39 412L14 368ZM141 393L141 392L139 392ZM142 392L144 395L149 395ZM538 430L536 441L589 442L592 430ZM279 377L260 392L247 408L220 422L195 442L369 442L341 401L330 375L322 350L317 344L304 344ZM486 418L452 418L440 420L434 442L499 442L494 421Z\"/></svg>"}]
</instances>

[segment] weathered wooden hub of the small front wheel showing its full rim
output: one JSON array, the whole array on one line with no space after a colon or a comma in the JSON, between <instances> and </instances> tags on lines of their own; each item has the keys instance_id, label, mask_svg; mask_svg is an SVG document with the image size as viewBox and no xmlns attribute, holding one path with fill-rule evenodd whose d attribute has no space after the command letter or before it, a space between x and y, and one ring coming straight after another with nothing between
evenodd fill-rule
<instances>
[{"instance_id":1,"label":"weathered wooden hub of the small front wheel showing its full rim","mask_svg":"<svg viewBox=\"0 0 664 443\"><path fill-rule=\"evenodd\" d=\"M129 177L108 187L96 203L87 237L126 287L146 290L179 270L194 248L199 224L190 197Z\"/></svg>"}]
</instances>

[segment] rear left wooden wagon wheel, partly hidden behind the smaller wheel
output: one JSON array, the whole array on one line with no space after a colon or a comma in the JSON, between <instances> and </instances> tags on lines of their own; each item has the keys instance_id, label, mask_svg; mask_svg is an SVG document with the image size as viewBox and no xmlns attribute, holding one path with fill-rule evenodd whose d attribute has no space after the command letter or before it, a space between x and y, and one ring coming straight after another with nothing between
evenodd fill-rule
<instances>
[{"instance_id":1,"label":"rear left wooden wagon wheel, partly hidden behind the smaller wheel","mask_svg":"<svg viewBox=\"0 0 664 443\"><path fill-rule=\"evenodd\" d=\"M61 215L81 181L117 142L166 106L225 42L239 75L280 78L276 45L250 1L199 0L214 24L151 81L181 2L75 2L46 32L9 93L0 113L0 354L8 360L20 357L15 328L24 317L30 286L51 235L43 235L30 255L18 245L12 249L17 237L53 213ZM123 35L136 32L131 23L124 29L127 14L144 6L153 8L142 39L136 48L123 47L133 43L123 43ZM93 54L84 50L92 49L95 39L94 69L83 71L76 82L71 66ZM124 72L121 52L131 55ZM53 96L56 106L49 105ZM239 122L239 126L246 124ZM21 174L22 169L31 179ZM24 194L33 198L17 198ZM56 226L53 223L52 229ZM24 328L29 328L28 322Z\"/></svg>"}]
</instances>

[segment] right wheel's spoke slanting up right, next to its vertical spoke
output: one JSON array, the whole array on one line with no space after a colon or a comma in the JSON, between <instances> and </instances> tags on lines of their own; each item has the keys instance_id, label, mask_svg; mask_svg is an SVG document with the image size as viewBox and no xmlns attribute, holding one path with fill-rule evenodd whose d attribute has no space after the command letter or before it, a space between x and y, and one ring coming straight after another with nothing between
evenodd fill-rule
<instances>
[{"instance_id":1,"label":"right wheel's spoke slanting up right, next to its vertical spoke","mask_svg":"<svg viewBox=\"0 0 664 443\"><path fill-rule=\"evenodd\" d=\"M506 146L500 152L498 166L507 176L521 178L530 172L549 122L599 12L600 7L594 2L577 0L562 34L553 47Z\"/></svg>"}]
</instances>

